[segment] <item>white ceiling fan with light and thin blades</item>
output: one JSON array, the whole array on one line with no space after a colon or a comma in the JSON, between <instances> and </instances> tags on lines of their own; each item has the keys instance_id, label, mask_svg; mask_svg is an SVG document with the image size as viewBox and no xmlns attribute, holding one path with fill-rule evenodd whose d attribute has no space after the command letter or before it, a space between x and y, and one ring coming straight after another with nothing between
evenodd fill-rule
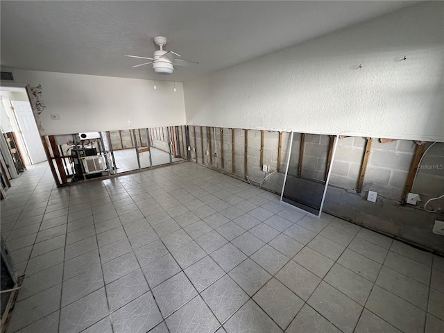
<instances>
[{"instance_id":1,"label":"white ceiling fan with light and thin blades","mask_svg":"<svg viewBox=\"0 0 444 333\"><path fill-rule=\"evenodd\" d=\"M198 65L198 62L195 61L177 59L176 56L180 57L180 54L176 52L165 51L164 46L165 44L167 44L167 38L162 36L157 36L154 37L154 42L157 46L159 46L159 49L154 52L153 58L146 58L141 56L129 56L128 54L125 55L130 58L152 60L151 62L145 62L143 64L135 65L133 66L133 68L153 64L153 71L156 74L172 74L174 69L176 69L175 66Z\"/></svg>"}]
</instances>

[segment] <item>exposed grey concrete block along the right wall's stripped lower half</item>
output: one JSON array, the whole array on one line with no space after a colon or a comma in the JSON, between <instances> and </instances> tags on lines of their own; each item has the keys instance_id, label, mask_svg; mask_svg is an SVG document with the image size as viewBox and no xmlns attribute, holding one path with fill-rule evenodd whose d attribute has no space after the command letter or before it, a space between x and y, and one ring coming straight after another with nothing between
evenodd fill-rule
<instances>
[{"instance_id":1,"label":"exposed grey concrete block along the right wall's stripped lower half","mask_svg":"<svg viewBox=\"0 0 444 333\"><path fill-rule=\"evenodd\" d=\"M189 133L190 142L193 142L192 130ZM196 133L200 134L200 129L196 130ZM241 178L244 176L243 133L244 130L234 130L235 171L237 176ZM271 171L275 171L278 159L279 133L268 131L264 133L264 164L269 164ZM214 136L213 133L212 135ZM220 145L220 135L221 133L217 129L216 146ZM224 128L223 136L224 169L231 173L232 130ZM262 188L278 194L282 191L284 172L289 155L290 137L291 133L282 133L280 172L272 173L262 184ZM294 133L289 162L289 174L294 176L297 176L298 173L300 138L300 133ZM412 191L420 194L423 202L419 206L413 207L401 205L400 202L416 149L416 144L413 141L397 140L382 144L379 139L374 139L364 178L363 191L361 194L357 194L352 189L357 188L366 138L345 137L338 140L323 212L444 254L444 238L432 233L435 219L444 220L444 214L443 212L429 213L422 209L425 198L444 194L444 144L434 144L422 160L422 167L418 170ZM305 164L302 175L307 175L309 171L316 171L318 175L322 174L323 178L325 169L322 169L319 164L325 166L323 156L326 158L329 143L330 139L327 135L306 136L305 153L308 156L317 157L318 160L316 161L316 169L314 163ZM426 149L429 145L430 143L427 143ZM198 147L198 151L200 151L199 143ZM248 130L247 176L250 180L253 180L253 184L257 184L264 178L264 173L259 165L260 147L261 131ZM220 150L218 149L214 149L214 152L219 153ZM201 163L200 160L198 162ZM216 169L219 168L220 164L218 163L220 162L213 159L213 167ZM296 178L296 181L289 182L288 185L289 189L294 187L293 195L300 196L300 198L295 198L305 200L308 205L314 206L315 199L317 201L321 198L321 186L314 186L322 185L319 181L315 183L313 180ZM366 200L368 190L378 192L379 196L376 203ZM437 207L444 208L444 200L434 201L429 209L436 209Z\"/></svg>"}]
</instances>

